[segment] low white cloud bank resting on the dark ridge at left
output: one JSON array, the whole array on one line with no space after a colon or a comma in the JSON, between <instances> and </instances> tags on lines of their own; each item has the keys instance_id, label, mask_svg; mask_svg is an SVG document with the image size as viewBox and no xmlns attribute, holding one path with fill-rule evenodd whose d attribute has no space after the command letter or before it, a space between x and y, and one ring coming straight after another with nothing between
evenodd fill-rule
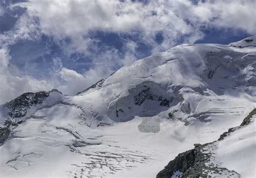
<instances>
[{"instance_id":1,"label":"low white cloud bank resting on the dark ridge at left","mask_svg":"<svg viewBox=\"0 0 256 178\"><path fill-rule=\"evenodd\" d=\"M7 49L0 49L0 104L10 101L24 92L37 92L57 88L64 94L73 95L105 76L104 67L86 71L83 75L62 66L55 59L55 73L50 79L35 79L22 75L15 66L10 66L11 57Z\"/></svg>"}]
</instances>

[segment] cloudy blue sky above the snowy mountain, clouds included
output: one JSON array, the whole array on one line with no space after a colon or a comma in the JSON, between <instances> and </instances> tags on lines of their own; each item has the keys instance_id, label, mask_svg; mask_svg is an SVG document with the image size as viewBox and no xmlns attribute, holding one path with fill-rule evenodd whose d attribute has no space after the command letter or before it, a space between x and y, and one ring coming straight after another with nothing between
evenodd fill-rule
<instances>
[{"instance_id":1,"label":"cloudy blue sky above the snowy mountain, clouds included","mask_svg":"<svg viewBox=\"0 0 256 178\"><path fill-rule=\"evenodd\" d=\"M73 95L114 70L184 43L244 39L248 1L0 2L0 103L57 88Z\"/></svg>"}]
</instances>

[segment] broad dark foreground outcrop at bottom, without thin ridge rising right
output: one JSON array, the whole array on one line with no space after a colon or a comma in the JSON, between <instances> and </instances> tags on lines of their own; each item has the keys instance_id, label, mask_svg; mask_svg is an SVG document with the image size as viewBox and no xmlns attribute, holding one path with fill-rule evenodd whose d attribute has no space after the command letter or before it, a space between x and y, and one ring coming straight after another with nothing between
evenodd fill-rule
<instances>
[{"instance_id":1,"label":"broad dark foreground outcrop at bottom, without thin ridge rising right","mask_svg":"<svg viewBox=\"0 0 256 178\"><path fill-rule=\"evenodd\" d=\"M233 170L218 167L210 163L212 158L211 152L205 152L208 147L212 147L213 143L204 145L196 144L194 149L178 154L176 158L168 163L163 170L157 174L157 178L169 178L179 172L180 175L175 177L209 177L208 173L215 175L227 175L232 177L239 177L239 174Z\"/></svg>"}]
</instances>

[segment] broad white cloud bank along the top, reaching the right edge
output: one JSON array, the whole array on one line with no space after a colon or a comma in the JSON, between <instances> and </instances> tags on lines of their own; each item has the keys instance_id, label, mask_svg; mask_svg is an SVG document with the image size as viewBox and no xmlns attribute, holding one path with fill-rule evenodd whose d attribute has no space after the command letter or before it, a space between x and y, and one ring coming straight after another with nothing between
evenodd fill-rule
<instances>
[{"instance_id":1,"label":"broad white cloud bank along the top, reaching the right edge","mask_svg":"<svg viewBox=\"0 0 256 178\"><path fill-rule=\"evenodd\" d=\"M31 16L39 18L43 33L76 38L83 48L88 44L83 44L85 40L79 35L96 30L139 31L144 42L158 48L154 37L161 31L165 37L162 51L173 46L183 34L192 37L188 42L202 38L199 27L203 24L234 27L248 33L256 30L254 0L206 1L197 5L184 0L157 0L147 4L118 0L31 1L26 6Z\"/></svg>"}]
</instances>

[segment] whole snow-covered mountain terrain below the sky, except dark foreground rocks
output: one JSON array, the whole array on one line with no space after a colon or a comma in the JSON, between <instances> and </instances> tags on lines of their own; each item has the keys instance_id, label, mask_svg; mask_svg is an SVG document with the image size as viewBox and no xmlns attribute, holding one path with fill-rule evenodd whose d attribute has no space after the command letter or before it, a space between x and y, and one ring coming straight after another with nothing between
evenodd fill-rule
<instances>
[{"instance_id":1,"label":"whole snow-covered mountain terrain below the sky, except dark foreground rocks","mask_svg":"<svg viewBox=\"0 0 256 178\"><path fill-rule=\"evenodd\" d=\"M173 47L76 96L23 94L0 106L0 176L155 177L196 144L199 156L218 155L207 159L227 173L255 177L255 124L212 143L256 108L255 72L253 36Z\"/></svg>"}]
</instances>

